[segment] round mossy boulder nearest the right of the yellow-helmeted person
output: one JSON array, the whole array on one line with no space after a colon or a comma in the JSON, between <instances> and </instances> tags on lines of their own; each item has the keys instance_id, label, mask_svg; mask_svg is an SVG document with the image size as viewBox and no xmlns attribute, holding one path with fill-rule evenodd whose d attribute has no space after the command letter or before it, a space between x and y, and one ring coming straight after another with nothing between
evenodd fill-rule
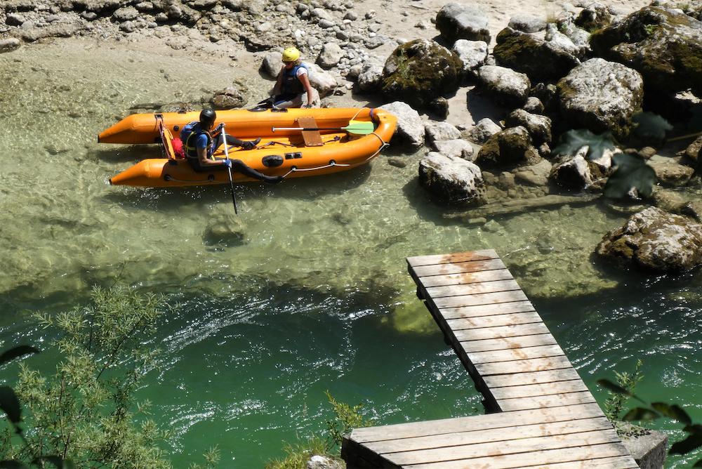
<instances>
[{"instance_id":1,"label":"round mossy boulder nearest the right of the yellow-helmeted person","mask_svg":"<svg viewBox=\"0 0 702 469\"><path fill-rule=\"evenodd\" d=\"M426 107L458 89L462 67L458 55L449 49L416 39L398 46L385 61L381 89L388 98Z\"/></svg>"}]
</instances>

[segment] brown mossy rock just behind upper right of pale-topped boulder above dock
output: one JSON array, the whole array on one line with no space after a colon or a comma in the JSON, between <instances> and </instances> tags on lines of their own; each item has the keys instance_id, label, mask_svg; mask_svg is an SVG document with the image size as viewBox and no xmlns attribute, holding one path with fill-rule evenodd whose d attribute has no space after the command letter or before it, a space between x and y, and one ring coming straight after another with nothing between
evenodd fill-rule
<instances>
[{"instance_id":1,"label":"brown mossy rock just behind upper right of pale-topped boulder above dock","mask_svg":"<svg viewBox=\"0 0 702 469\"><path fill-rule=\"evenodd\" d=\"M538 151L531 143L529 132L518 126L491 136L478 152L476 162L481 167L505 168L534 164L538 160Z\"/></svg>"}]
</instances>

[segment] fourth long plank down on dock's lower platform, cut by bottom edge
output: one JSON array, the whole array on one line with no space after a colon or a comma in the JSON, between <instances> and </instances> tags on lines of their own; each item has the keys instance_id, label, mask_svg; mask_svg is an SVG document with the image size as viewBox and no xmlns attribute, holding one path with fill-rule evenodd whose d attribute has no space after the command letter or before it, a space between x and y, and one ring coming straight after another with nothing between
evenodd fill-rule
<instances>
[{"instance_id":1,"label":"fourth long plank down on dock's lower platform, cut by bottom edge","mask_svg":"<svg viewBox=\"0 0 702 469\"><path fill-rule=\"evenodd\" d=\"M488 456L458 461L431 462L423 464L404 465L404 469L512 469L540 467L545 464L571 463L571 461L587 461L597 458L627 456L628 452L622 444L594 444L579 447L529 451L525 454L508 454L503 456ZM570 466L569 466L570 467ZM588 467L588 466L585 466Z\"/></svg>"}]
</instances>

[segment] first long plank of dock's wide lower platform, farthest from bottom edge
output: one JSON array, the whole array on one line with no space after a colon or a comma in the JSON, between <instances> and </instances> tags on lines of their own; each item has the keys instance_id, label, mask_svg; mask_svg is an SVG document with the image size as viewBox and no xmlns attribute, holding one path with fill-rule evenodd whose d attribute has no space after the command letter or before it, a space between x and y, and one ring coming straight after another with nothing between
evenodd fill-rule
<instances>
[{"instance_id":1,"label":"first long plank of dock's wide lower platform, farthest from bottom edge","mask_svg":"<svg viewBox=\"0 0 702 469\"><path fill-rule=\"evenodd\" d=\"M443 418L441 420L397 423L382 427L355 428L350 440L359 443L396 440L428 435L445 435L466 430L481 431L492 428L512 428L520 425L562 422L581 418L602 417L597 404L582 404L562 409L538 409L534 411L501 412L471 417Z\"/></svg>"}]
</instances>

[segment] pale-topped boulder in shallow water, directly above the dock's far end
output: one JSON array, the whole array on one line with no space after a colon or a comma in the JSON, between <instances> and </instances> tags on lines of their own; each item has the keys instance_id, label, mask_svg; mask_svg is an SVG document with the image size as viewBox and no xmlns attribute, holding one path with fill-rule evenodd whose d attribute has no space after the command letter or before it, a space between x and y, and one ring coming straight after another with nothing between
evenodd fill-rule
<instances>
[{"instance_id":1,"label":"pale-topped boulder in shallow water, directly above the dock's far end","mask_svg":"<svg viewBox=\"0 0 702 469\"><path fill-rule=\"evenodd\" d=\"M429 152L419 162L419 183L449 204L484 204L484 183L480 169L459 157Z\"/></svg>"}]
</instances>

